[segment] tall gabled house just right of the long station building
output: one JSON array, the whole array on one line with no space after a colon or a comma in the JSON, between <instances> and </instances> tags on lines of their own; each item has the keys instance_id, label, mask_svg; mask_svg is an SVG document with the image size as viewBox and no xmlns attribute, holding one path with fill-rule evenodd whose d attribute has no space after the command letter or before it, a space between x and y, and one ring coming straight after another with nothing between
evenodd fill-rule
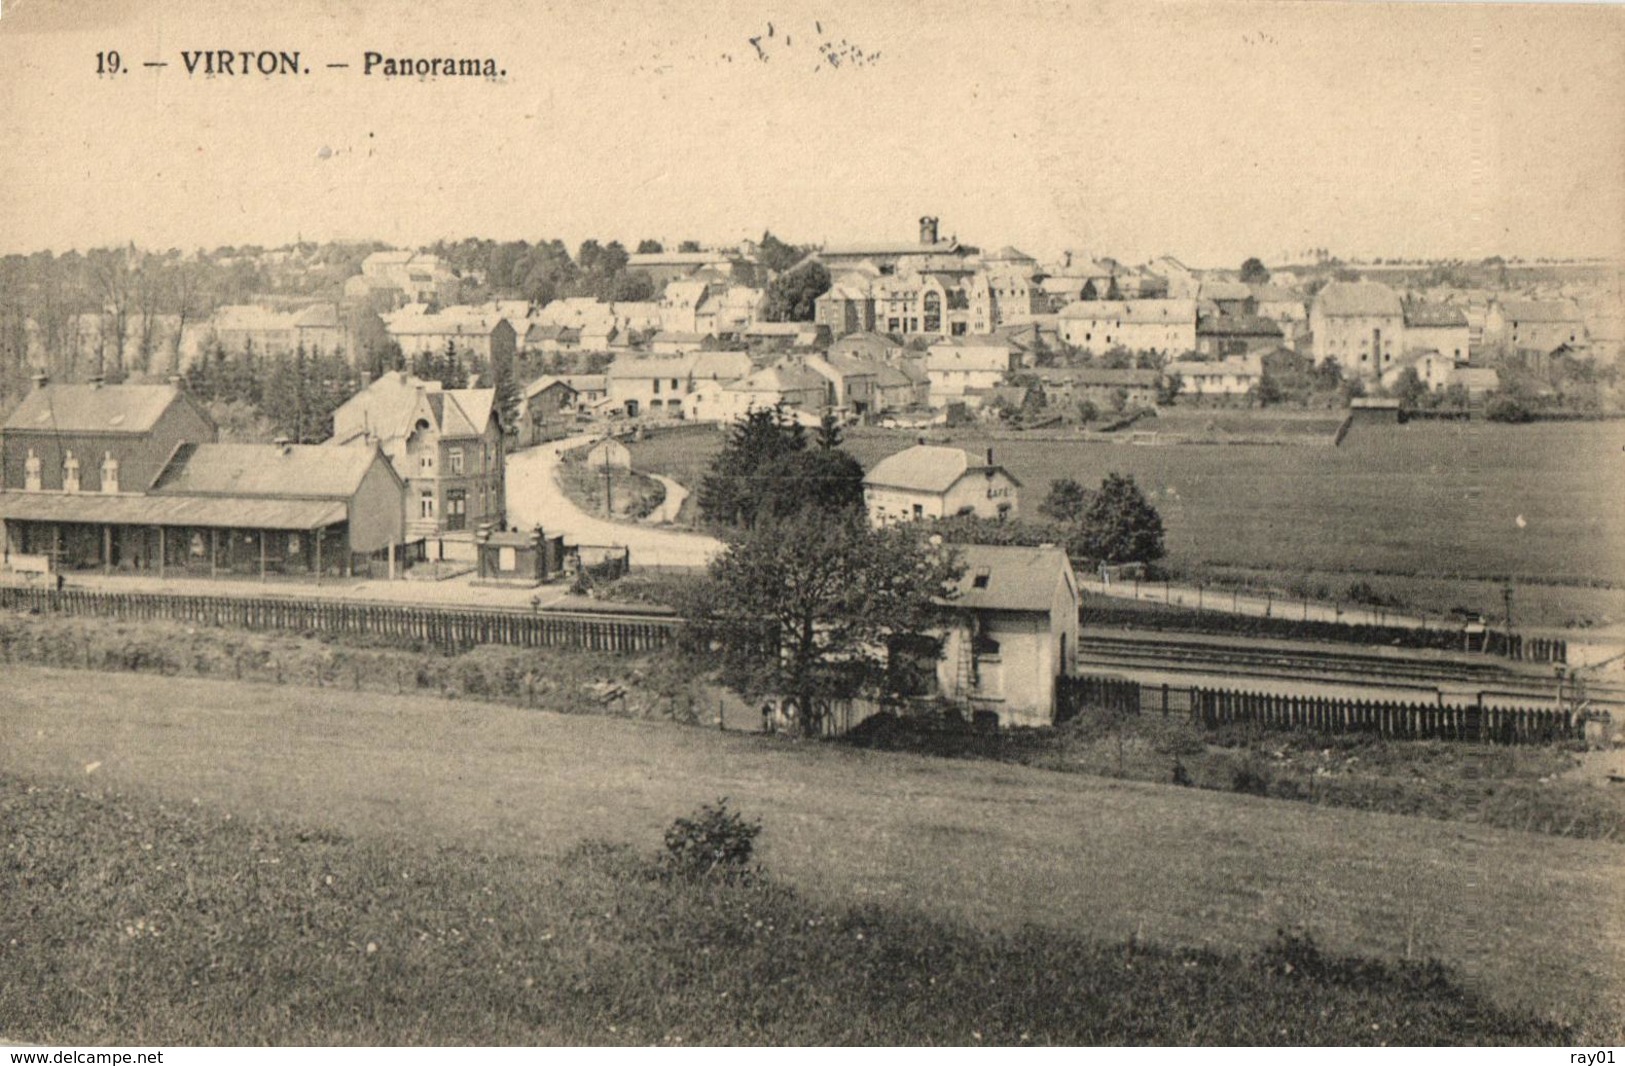
<instances>
[{"instance_id":1,"label":"tall gabled house just right of the long station building","mask_svg":"<svg viewBox=\"0 0 1625 1066\"><path fill-rule=\"evenodd\" d=\"M442 388L395 370L333 413L328 447L379 447L410 494L411 536L500 525L505 439L494 388Z\"/></svg>"}]
</instances>

